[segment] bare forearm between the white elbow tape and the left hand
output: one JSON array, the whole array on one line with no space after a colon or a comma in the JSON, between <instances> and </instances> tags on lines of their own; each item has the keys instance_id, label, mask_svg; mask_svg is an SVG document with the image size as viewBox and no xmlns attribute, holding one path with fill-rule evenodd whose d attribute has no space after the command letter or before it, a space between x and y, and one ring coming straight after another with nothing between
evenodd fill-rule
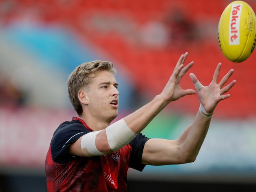
<instances>
[{"instance_id":1,"label":"bare forearm between the white elbow tape and the left hand","mask_svg":"<svg viewBox=\"0 0 256 192\"><path fill-rule=\"evenodd\" d=\"M161 95L157 95L151 102L124 117L124 121L134 133L139 133L167 104Z\"/></svg>"}]
</instances>

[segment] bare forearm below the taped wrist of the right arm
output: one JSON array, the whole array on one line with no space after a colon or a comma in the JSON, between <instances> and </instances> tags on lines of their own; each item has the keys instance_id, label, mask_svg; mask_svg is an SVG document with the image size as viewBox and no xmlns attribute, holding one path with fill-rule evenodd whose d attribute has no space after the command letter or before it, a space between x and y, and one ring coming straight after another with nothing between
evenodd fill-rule
<instances>
[{"instance_id":1,"label":"bare forearm below the taped wrist of the right arm","mask_svg":"<svg viewBox=\"0 0 256 192\"><path fill-rule=\"evenodd\" d=\"M187 127L180 138L178 138L181 153L185 154L189 162L195 161L204 138L206 137L210 122L211 118L206 118L198 112L194 122Z\"/></svg>"}]
</instances>

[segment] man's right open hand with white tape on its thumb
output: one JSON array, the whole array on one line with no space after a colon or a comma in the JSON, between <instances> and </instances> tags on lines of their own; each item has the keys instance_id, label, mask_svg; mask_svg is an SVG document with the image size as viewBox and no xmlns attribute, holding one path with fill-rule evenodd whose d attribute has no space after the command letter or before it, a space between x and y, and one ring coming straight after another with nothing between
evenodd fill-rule
<instances>
[{"instance_id":1,"label":"man's right open hand with white tape on its thumb","mask_svg":"<svg viewBox=\"0 0 256 192\"><path fill-rule=\"evenodd\" d=\"M236 80L233 80L231 83L223 87L224 84L230 78L230 76L233 74L234 72L233 69L230 69L229 72L221 79L219 84L217 84L217 79L219 77L220 70L221 70L221 63L217 65L217 68L213 75L213 79L210 85L206 87L202 86L202 84L198 81L195 74L193 73L189 74L192 82L194 83L197 89L199 101L204 107L206 113L208 114L213 113L215 107L221 100L224 100L230 97L230 94L225 94L225 93L228 92L228 90L230 90L236 84Z\"/></svg>"}]
</instances>

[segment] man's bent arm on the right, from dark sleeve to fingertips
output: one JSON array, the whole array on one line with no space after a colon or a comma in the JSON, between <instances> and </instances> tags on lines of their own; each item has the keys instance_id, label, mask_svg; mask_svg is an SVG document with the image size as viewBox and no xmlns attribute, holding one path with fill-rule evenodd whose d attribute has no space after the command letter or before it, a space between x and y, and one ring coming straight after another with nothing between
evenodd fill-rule
<instances>
[{"instance_id":1,"label":"man's bent arm on the right, from dark sleeve to fingertips","mask_svg":"<svg viewBox=\"0 0 256 192\"><path fill-rule=\"evenodd\" d=\"M223 87L226 81L230 78L234 70L230 70L217 84L221 64L219 63L213 80L210 85L203 87L197 80L194 74L190 74L190 78L196 86L198 91L198 98L201 109L194 122L187 127L184 133L176 140L167 139L150 139L146 142L142 163L150 165L164 165L164 164L181 164L195 161L197 154L202 146L206 133L210 126L211 116L219 101L224 100L230 96L225 94L236 81L232 81L226 87Z\"/></svg>"}]
</instances>

